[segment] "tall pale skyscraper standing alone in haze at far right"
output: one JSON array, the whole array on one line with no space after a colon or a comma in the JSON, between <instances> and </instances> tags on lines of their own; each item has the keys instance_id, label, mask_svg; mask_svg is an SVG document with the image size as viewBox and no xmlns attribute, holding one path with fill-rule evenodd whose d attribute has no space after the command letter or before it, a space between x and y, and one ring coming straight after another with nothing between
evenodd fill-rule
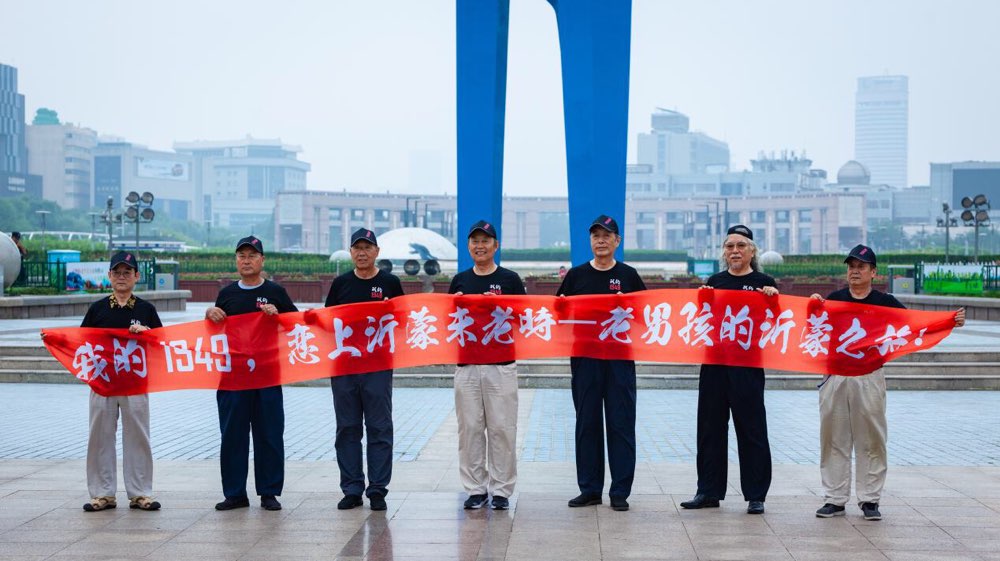
<instances>
[{"instance_id":1,"label":"tall pale skyscraper standing alone in haze at far right","mask_svg":"<svg viewBox=\"0 0 1000 561\"><path fill-rule=\"evenodd\" d=\"M858 78L854 108L854 159L871 171L874 184L904 189L906 181L909 78Z\"/></svg>"}]
</instances>

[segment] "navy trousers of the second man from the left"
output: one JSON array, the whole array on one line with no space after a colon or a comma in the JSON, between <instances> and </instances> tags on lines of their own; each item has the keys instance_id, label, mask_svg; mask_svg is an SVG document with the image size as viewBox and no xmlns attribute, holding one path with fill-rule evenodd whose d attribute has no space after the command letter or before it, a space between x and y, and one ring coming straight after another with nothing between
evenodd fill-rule
<instances>
[{"instance_id":1,"label":"navy trousers of the second man from the left","mask_svg":"<svg viewBox=\"0 0 1000 561\"><path fill-rule=\"evenodd\" d=\"M281 386L259 390L219 390L222 449L222 493L247 496L250 435L253 435L253 475L258 495L280 495L285 484L285 406Z\"/></svg>"}]
</instances>

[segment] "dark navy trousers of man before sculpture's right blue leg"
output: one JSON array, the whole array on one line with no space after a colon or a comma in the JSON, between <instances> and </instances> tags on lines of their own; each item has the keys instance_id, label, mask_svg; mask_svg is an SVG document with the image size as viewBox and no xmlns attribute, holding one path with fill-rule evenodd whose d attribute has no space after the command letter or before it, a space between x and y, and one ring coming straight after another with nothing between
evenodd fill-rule
<instances>
[{"instance_id":1,"label":"dark navy trousers of man before sculpture's right blue leg","mask_svg":"<svg viewBox=\"0 0 1000 561\"><path fill-rule=\"evenodd\" d=\"M628 497L635 478L635 362L570 358L576 407L576 480L580 492L604 493L604 429L611 497Z\"/></svg>"}]
</instances>

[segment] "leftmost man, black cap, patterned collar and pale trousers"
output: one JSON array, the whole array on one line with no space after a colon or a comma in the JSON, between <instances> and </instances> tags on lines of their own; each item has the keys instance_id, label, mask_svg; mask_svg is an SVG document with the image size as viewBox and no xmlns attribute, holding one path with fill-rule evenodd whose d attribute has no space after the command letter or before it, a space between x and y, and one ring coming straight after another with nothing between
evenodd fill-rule
<instances>
[{"instance_id":1,"label":"leftmost man, black cap, patterned collar and pale trousers","mask_svg":"<svg viewBox=\"0 0 1000 561\"><path fill-rule=\"evenodd\" d=\"M119 251L111 257L108 279L111 281L111 296L91 304L80 327L128 329L129 333L163 327L156 308L132 292L139 281L139 264L134 253ZM90 441L87 445L87 490L91 499L83 505L83 510L94 512L117 506L115 433L119 413L122 418L122 464L129 507L157 510L160 503L152 499L149 395L104 397L93 390L90 392Z\"/></svg>"}]
</instances>

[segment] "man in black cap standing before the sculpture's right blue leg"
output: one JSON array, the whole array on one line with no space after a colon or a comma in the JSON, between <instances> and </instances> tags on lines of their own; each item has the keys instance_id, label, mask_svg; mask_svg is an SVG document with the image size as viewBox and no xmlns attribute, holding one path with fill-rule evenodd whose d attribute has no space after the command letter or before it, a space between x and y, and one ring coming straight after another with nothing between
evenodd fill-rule
<instances>
[{"instance_id":1,"label":"man in black cap standing before the sculpture's right blue leg","mask_svg":"<svg viewBox=\"0 0 1000 561\"><path fill-rule=\"evenodd\" d=\"M594 258L566 273L557 294L625 294L646 290L639 273L615 260L621 245L618 223L601 215L590 225ZM611 508L629 509L635 478L635 362L570 357L576 408L576 480L580 495L569 506L599 505L604 494L604 426L608 433Z\"/></svg>"}]
</instances>

